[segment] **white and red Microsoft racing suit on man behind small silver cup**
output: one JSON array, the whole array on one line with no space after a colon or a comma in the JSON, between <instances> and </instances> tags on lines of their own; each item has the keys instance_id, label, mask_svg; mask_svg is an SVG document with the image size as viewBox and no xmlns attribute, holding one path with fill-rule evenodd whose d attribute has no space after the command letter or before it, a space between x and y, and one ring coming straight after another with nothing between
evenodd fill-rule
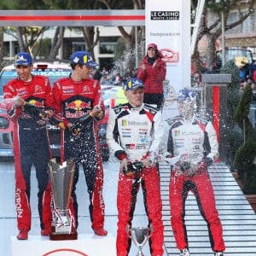
<instances>
[{"instance_id":1,"label":"white and red Microsoft racing suit on man behind small silver cup","mask_svg":"<svg viewBox=\"0 0 256 256\"><path fill-rule=\"evenodd\" d=\"M161 113L148 104L143 104L140 108L132 108L129 103L125 103L110 110L107 140L119 160L127 158L128 162L135 162L143 160L148 152L157 154L163 132ZM116 244L118 256L128 255L130 251L131 239L127 235L126 228L131 227L140 184L148 223L153 226L153 233L149 238L151 255L163 255L160 175L158 166L154 164L143 167L143 171L134 176L125 176L123 172L119 172Z\"/></svg>"}]
</instances>

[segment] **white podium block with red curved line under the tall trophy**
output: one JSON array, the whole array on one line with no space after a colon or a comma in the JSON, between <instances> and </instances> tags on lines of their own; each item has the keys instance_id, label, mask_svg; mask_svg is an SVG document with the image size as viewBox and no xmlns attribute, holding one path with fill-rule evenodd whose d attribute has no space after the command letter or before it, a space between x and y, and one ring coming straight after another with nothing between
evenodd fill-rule
<instances>
[{"instance_id":1,"label":"white podium block with red curved line under the tall trophy","mask_svg":"<svg viewBox=\"0 0 256 256\"><path fill-rule=\"evenodd\" d=\"M44 236L28 236L17 240L11 236L12 256L114 256L115 237L81 234L78 240L50 241ZM24 253L24 254L23 254Z\"/></svg>"}]
</instances>

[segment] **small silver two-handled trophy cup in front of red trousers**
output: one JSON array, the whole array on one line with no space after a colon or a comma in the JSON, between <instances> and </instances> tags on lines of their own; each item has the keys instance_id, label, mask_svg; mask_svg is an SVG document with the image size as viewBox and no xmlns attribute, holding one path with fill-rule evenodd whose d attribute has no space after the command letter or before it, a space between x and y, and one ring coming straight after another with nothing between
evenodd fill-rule
<instances>
[{"instance_id":1,"label":"small silver two-handled trophy cup in front of red trousers","mask_svg":"<svg viewBox=\"0 0 256 256\"><path fill-rule=\"evenodd\" d=\"M127 225L126 228L128 236L131 238L131 241L135 244L135 246L138 248L137 256L144 256L143 254L143 247L148 241L148 238L152 235L153 232L153 226L150 225L150 227L136 227L132 228L129 225Z\"/></svg>"}]
</instances>

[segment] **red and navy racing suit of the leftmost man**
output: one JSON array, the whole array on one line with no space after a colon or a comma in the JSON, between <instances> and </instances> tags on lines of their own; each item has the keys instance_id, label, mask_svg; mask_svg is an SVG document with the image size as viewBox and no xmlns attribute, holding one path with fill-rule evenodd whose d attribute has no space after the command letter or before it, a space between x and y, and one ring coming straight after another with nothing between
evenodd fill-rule
<instances>
[{"instance_id":1,"label":"red and navy racing suit of the leftmost man","mask_svg":"<svg viewBox=\"0 0 256 256\"><path fill-rule=\"evenodd\" d=\"M30 82L13 79L3 88L5 99L20 96L38 108L50 109L53 102L49 79L44 76L32 76ZM42 230L51 225L51 195L48 175L50 157L49 138L46 125L38 119L24 113L23 108L12 108L9 116L14 120L14 156L15 156L15 205L18 229L31 229L31 168L36 169L38 179L38 212Z\"/></svg>"}]
</instances>

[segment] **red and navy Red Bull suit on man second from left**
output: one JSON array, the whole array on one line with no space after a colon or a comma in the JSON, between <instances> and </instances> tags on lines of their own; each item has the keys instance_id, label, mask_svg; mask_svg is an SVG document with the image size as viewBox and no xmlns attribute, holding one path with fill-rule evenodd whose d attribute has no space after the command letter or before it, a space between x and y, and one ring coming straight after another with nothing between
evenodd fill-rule
<instances>
[{"instance_id":1,"label":"red and navy Red Bull suit on man second from left","mask_svg":"<svg viewBox=\"0 0 256 256\"><path fill-rule=\"evenodd\" d=\"M61 114L64 124L74 123L99 104L104 111L101 86L94 79L81 81L74 81L71 77L59 79L54 84L53 95L55 113ZM93 230L103 228L105 208L102 197L103 166L96 121L90 122L90 125L80 131L78 136L74 136L69 129L64 129L61 132L61 159L62 161L73 159L76 163L72 191L76 226L79 223L75 190L79 181L79 164L81 164L90 197L91 227Z\"/></svg>"}]
</instances>

